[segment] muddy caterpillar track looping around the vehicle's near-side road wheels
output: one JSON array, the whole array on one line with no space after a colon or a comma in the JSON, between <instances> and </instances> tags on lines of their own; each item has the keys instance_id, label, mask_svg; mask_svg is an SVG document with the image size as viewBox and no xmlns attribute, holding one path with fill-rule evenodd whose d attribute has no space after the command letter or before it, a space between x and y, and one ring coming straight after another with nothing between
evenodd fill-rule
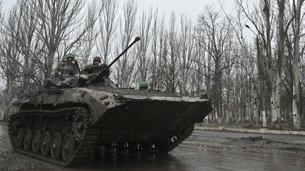
<instances>
[{"instance_id":1,"label":"muddy caterpillar track looping around the vehicle's near-side road wheels","mask_svg":"<svg viewBox=\"0 0 305 171\"><path fill-rule=\"evenodd\" d=\"M45 160L49 163L53 163L55 165L60 166L67 166L67 165L75 165L78 163L83 163L85 160L87 160L88 156L92 154L92 149L95 146L95 143L99 137L99 129L94 129L93 127L90 127L88 123L85 125L85 134L80 137L78 142L76 142L75 150L73 153L73 156L70 160L64 160L61 158L52 158L49 156L44 156L42 153L35 153L32 151L32 148L30 150L25 150L22 146L18 148L15 144L14 139L16 139L16 127L18 125L13 125L13 122L16 120L24 120L25 118L70 118L73 117L73 115L79 115L79 114L85 114L88 115L88 111L85 108L76 107L76 108L64 108L61 110L26 110L26 111L20 111L18 113L14 113L10 116L9 122L8 122L8 137L11 141L11 145L13 147L14 151L17 151L18 153L23 153L27 156L32 156L34 158L38 158L40 160ZM20 121L19 121L20 122ZM71 121L67 121L71 122ZM15 129L14 129L15 127ZM71 132L73 134L73 132Z\"/></svg>"}]
</instances>

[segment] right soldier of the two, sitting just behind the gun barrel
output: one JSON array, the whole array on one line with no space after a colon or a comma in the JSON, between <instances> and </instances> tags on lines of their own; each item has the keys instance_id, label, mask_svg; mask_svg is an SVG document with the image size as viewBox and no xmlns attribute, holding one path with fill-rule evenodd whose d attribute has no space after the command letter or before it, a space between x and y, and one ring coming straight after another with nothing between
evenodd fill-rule
<instances>
[{"instance_id":1,"label":"right soldier of the two, sitting just behind the gun barrel","mask_svg":"<svg viewBox=\"0 0 305 171\"><path fill-rule=\"evenodd\" d=\"M108 65L104 63L100 64L101 62L102 62L101 58L99 56L95 56L95 58L93 58L92 65L86 65L85 69L80 71L80 78L79 78L80 85L83 86L90 77L97 76L94 74L98 72L102 72L105 68L107 68ZM98 84L99 82L102 82L102 78L109 78L109 75L110 75L110 71L109 69L107 69L106 71L103 72L103 75L98 76L100 79L95 79L95 81L92 83Z\"/></svg>"}]
</instances>

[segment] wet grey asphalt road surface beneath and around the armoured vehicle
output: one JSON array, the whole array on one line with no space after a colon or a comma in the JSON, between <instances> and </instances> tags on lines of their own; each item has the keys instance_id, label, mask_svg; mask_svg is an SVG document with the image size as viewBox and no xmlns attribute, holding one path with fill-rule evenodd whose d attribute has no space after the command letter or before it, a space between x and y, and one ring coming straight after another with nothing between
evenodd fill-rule
<instances>
[{"instance_id":1,"label":"wet grey asphalt road surface beneath and around the armoured vehicle","mask_svg":"<svg viewBox=\"0 0 305 171\"><path fill-rule=\"evenodd\" d=\"M100 158L57 167L15 153L0 123L0 170L305 170L305 137L195 130L167 156L100 148Z\"/></svg>"}]
</instances>

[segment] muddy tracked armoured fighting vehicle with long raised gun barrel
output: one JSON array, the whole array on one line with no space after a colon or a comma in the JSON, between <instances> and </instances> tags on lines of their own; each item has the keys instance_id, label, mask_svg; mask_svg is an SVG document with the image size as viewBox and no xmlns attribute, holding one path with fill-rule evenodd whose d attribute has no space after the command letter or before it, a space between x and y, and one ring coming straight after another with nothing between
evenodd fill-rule
<instances>
[{"instance_id":1,"label":"muddy tracked armoured fighting vehicle with long raised gun barrel","mask_svg":"<svg viewBox=\"0 0 305 171\"><path fill-rule=\"evenodd\" d=\"M83 163L97 146L168 153L213 110L208 99L116 88L105 78L102 84L44 89L18 106L8 124L13 149L61 166Z\"/></svg>"}]
</instances>

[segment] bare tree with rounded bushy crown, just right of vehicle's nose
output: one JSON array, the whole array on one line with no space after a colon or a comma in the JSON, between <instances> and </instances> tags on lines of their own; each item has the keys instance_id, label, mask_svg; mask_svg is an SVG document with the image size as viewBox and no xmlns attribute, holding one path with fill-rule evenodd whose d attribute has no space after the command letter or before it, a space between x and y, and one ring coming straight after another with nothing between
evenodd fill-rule
<instances>
[{"instance_id":1,"label":"bare tree with rounded bushy crown, just right of vehicle's nose","mask_svg":"<svg viewBox=\"0 0 305 171\"><path fill-rule=\"evenodd\" d=\"M203 32L205 51L213 58L213 99L218 122L222 119L222 72L232 63L224 64L225 51L229 48L229 39L232 39L232 28L225 20L220 20L220 12L213 10L212 6L205 8L205 13L199 15L198 32ZM211 68L210 68L211 69Z\"/></svg>"}]
</instances>

